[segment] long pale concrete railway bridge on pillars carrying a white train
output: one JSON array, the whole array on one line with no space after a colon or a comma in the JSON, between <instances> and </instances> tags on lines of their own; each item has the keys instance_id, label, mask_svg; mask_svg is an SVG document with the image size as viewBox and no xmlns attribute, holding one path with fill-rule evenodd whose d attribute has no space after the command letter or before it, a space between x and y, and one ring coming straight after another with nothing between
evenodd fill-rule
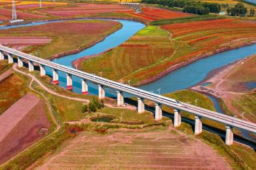
<instances>
[{"instance_id":1,"label":"long pale concrete railway bridge on pillars carrying a white train","mask_svg":"<svg viewBox=\"0 0 256 170\"><path fill-rule=\"evenodd\" d=\"M155 120L161 120L162 118L162 105L169 106L174 108L174 127L181 125L181 111L187 111L195 115L195 135L201 134L202 132L202 118L210 119L223 123L226 125L226 135L225 135L225 144L233 144L233 128L239 128L242 130L247 130L248 132L256 133L256 124L249 121L240 120L234 118L230 115L225 115L223 113L218 113L215 111L210 111L205 108L200 108L193 106L188 103L182 103L176 101L172 98L161 96L158 94L150 93L149 91L144 91L126 84L121 84L110 79L105 79L102 77L97 77L94 74L88 74L82 72L78 69L73 69L70 67L65 67L61 64L55 62L50 62L48 60L43 60L39 57L33 55L28 55L24 52L11 49L0 45L0 60L4 60L4 56L8 57L9 63L14 62L14 57L18 60L18 67L23 67L23 60L27 60L29 72L33 72L34 65L38 64L41 72L41 77L46 76L46 67L53 69L53 84L58 84L58 71L65 72L67 77L67 89L72 89L73 80L72 76L80 77L82 81L82 94L88 94L87 81L92 81L94 84L98 85L99 89L99 98L105 98L105 87L117 90L117 106L122 106L124 104L123 93L132 94L138 98L138 113L143 113L145 111L144 99L155 102Z\"/></svg>"}]
</instances>

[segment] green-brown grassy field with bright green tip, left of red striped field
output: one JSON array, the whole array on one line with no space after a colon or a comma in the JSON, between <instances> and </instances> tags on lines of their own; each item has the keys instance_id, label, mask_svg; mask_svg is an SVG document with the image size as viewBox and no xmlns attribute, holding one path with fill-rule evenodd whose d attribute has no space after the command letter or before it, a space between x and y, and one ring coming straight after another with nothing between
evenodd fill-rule
<instances>
[{"instance_id":1,"label":"green-brown grassy field with bright green tip, left of red striped field","mask_svg":"<svg viewBox=\"0 0 256 170\"><path fill-rule=\"evenodd\" d=\"M125 83L140 71L154 67L154 64L169 60L176 49L170 34L158 26L147 26L119 47L82 62L80 69L86 72L103 72L103 77L123 79ZM134 62L137 61L137 62ZM97 65L97 67L96 67ZM134 84L145 79L147 74L132 79ZM151 74L154 76L154 74Z\"/></svg>"}]
</instances>

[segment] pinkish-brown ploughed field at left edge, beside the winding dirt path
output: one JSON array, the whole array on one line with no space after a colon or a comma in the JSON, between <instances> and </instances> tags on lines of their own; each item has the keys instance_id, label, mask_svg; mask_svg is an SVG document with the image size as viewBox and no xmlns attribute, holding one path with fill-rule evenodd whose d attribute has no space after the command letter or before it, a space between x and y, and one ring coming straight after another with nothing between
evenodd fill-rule
<instances>
[{"instance_id":1,"label":"pinkish-brown ploughed field at left edge, beside the winding dirt path","mask_svg":"<svg viewBox=\"0 0 256 170\"><path fill-rule=\"evenodd\" d=\"M0 164L40 140L41 128L50 128L44 102L26 94L0 115Z\"/></svg>"}]
</instances>

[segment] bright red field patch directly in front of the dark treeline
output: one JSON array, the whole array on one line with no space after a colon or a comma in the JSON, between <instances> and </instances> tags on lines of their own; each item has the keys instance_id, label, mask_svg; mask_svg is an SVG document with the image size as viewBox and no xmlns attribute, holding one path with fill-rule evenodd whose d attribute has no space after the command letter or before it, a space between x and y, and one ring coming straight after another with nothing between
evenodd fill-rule
<instances>
[{"instance_id":1,"label":"bright red field patch directly in front of the dark treeline","mask_svg":"<svg viewBox=\"0 0 256 170\"><path fill-rule=\"evenodd\" d=\"M182 13L178 11L170 11L167 9L154 8L154 7L142 7L142 13L134 13L133 15L138 16L139 18L144 18L149 21L191 16L190 13Z\"/></svg>"}]
</instances>

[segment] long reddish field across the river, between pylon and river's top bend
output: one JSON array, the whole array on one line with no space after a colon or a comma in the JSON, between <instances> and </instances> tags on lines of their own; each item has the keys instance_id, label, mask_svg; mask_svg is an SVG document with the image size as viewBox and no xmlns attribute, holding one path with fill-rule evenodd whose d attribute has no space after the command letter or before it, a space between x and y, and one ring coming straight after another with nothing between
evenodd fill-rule
<instances>
[{"instance_id":1,"label":"long reddish field across the river, between pylon and river's top bend","mask_svg":"<svg viewBox=\"0 0 256 170\"><path fill-rule=\"evenodd\" d=\"M89 16L96 13L132 13L134 10L127 6L113 4L78 4L78 6L65 6L53 9L43 9L43 12L52 16L74 17Z\"/></svg>"}]
</instances>

